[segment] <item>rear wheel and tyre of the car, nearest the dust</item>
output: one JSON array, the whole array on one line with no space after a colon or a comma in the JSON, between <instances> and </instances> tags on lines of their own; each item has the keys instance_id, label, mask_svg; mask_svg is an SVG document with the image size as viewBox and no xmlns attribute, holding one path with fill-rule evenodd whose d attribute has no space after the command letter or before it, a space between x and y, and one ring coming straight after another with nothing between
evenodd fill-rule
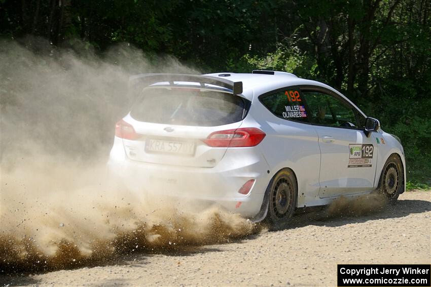
<instances>
[{"instance_id":1,"label":"rear wheel and tyre of the car, nearest the dust","mask_svg":"<svg viewBox=\"0 0 431 287\"><path fill-rule=\"evenodd\" d=\"M295 211L298 185L292 170L279 171L270 181L268 213L266 221L271 230L279 230L288 226L289 219Z\"/></svg>"}]
</instances>

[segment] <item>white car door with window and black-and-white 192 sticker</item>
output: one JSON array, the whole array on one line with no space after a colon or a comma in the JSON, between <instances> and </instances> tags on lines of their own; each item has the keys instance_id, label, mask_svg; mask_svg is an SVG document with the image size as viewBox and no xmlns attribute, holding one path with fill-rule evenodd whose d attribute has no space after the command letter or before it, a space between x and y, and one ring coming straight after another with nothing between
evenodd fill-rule
<instances>
[{"instance_id":1,"label":"white car door with window and black-and-white 192 sticker","mask_svg":"<svg viewBox=\"0 0 431 287\"><path fill-rule=\"evenodd\" d=\"M363 129L365 117L338 94L320 87L302 88L308 119L320 148L319 196L331 197L374 188L377 148Z\"/></svg>"}]
</instances>

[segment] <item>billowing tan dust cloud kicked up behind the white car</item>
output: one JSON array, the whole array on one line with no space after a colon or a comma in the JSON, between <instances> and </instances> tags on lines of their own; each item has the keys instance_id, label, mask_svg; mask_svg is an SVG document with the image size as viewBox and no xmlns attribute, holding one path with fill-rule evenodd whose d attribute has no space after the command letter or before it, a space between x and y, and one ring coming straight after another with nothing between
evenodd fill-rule
<instances>
[{"instance_id":1,"label":"billowing tan dust cloud kicked up behind the white car","mask_svg":"<svg viewBox=\"0 0 431 287\"><path fill-rule=\"evenodd\" d=\"M0 43L0 275L254 232L238 215L132 191L106 171L115 122L133 101L128 77L198 71L128 45L96 55L80 42L60 49L35 38L23 43Z\"/></svg>"}]
</instances>

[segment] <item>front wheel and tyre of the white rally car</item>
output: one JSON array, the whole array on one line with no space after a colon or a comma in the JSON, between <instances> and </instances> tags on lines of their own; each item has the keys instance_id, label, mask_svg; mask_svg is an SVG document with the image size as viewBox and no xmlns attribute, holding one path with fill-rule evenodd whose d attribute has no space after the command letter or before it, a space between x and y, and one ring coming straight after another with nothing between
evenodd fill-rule
<instances>
[{"instance_id":1,"label":"front wheel and tyre of the white rally car","mask_svg":"<svg viewBox=\"0 0 431 287\"><path fill-rule=\"evenodd\" d=\"M379 190L386 196L388 202L393 204L404 189L403 163L397 154L392 154L383 166L379 182Z\"/></svg>"}]
</instances>

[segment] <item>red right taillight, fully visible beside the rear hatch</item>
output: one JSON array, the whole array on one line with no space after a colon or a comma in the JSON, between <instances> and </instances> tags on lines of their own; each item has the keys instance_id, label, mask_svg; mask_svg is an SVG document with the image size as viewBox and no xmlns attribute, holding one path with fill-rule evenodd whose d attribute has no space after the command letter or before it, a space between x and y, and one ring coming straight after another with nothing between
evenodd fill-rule
<instances>
[{"instance_id":1,"label":"red right taillight, fully visible beside the rear hatch","mask_svg":"<svg viewBox=\"0 0 431 287\"><path fill-rule=\"evenodd\" d=\"M211 133L202 140L212 147L249 147L258 145L266 136L256 128L242 128Z\"/></svg>"}]
</instances>

